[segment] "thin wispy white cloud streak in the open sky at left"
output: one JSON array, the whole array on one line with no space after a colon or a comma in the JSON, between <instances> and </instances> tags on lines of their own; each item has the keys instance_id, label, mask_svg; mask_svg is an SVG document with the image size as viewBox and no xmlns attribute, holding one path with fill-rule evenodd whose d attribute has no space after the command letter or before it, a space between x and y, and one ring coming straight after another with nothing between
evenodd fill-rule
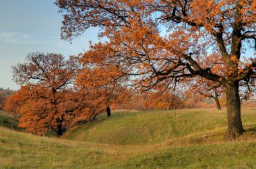
<instances>
[{"instance_id":1,"label":"thin wispy white cloud streak in the open sky at left","mask_svg":"<svg viewBox=\"0 0 256 169\"><path fill-rule=\"evenodd\" d=\"M0 42L7 44L38 44L53 42L53 37L36 36L21 32L0 32Z\"/></svg>"}]
</instances>

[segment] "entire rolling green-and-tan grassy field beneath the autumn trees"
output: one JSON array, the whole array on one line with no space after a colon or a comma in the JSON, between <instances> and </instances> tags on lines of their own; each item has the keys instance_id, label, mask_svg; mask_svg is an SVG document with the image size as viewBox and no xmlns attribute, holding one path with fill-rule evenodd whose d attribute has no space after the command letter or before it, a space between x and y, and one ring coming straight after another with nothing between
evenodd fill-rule
<instances>
[{"instance_id":1,"label":"entire rolling green-and-tan grassy field beneath the autumn trees","mask_svg":"<svg viewBox=\"0 0 256 169\"><path fill-rule=\"evenodd\" d=\"M256 168L256 108L243 109L236 141L224 139L225 112L115 111L60 138L4 126L0 168Z\"/></svg>"}]
</instances>

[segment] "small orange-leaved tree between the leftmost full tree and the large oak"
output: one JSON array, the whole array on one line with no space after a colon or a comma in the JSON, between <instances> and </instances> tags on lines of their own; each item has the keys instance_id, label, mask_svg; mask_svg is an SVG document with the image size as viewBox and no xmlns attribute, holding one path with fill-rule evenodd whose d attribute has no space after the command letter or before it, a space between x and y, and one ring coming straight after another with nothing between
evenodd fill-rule
<instances>
[{"instance_id":1,"label":"small orange-leaved tree between the leftmost full tree and the large oak","mask_svg":"<svg viewBox=\"0 0 256 169\"><path fill-rule=\"evenodd\" d=\"M111 115L110 105L121 104L131 96L127 88L127 78L117 73L117 67L101 64L100 60L90 62L81 58L82 71L76 79L77 86L84 91L90 91L93 104L106 108L107 116Z\"/></svg>"}]
</instances>

